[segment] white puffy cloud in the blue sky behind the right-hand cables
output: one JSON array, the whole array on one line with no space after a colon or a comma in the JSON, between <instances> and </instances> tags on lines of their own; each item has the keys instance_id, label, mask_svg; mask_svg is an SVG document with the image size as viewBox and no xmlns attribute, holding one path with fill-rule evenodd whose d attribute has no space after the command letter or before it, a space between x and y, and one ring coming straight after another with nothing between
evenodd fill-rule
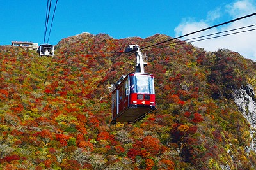
<instances>
[{"instance_id":1,"label":"white puffy cloud in the blue sky behind the right-hand cables","mask_svg":"<svg viewBox=\"0 0 256 170\"><path fill-rule=\"evenodd\" d=\"M221 8L225 8L225 10L220 10ZM241 0L241 1L234 1L234 3L229 4L227 6L222 6L218 9L213 9L212 11L208 12L208 15L205 16L205 20L192 20L191 18L186 18L175 28L175 36L179 37L185 34L189 34L191 32L195 32L207 27L211 27L212 25L220 24L214 23L214 20L225 17L225 18L239 18L245 15L249 15L251 13L255 13L256 11L256 4L253 4L253 1L250 0ZM225 13L226 11L226 13ZM228 21L227 19L225 21ZM223 25L221 27L215 27L214 29L209 29L207 31L199 32L193 34L191 36L186 36L183 38L184 40L189 38L196 38L199 36L205 36L208 34L214 34L217 32L228 31L231 29L237 29L239 27L245 27L248 25L256 24L256 16L244 18L243 20L239 20L236 22L232 22L231 24ZM256 27L250 27L247 29L241 29L237 31L244 31L248 29L256 29ZM235 32L237 32L235 31ZM232 32L226 32L225 34L229 34ZM217 34L214 36L220 36L221 34ZM209 37L206 37L209 38ZM195 39L196 40L196 39ZM230 36L223 36L221 38L214 38L208 39L205 41L198 41L192 43L195 46L200 48L204 48L207 51L216 51L220 48L227 48L233 50L235 52L239 52L246 58L250 58L256 60L256 30L255 31L248 31L240 34L233 34Z\"/></svg>"}]
</instances>

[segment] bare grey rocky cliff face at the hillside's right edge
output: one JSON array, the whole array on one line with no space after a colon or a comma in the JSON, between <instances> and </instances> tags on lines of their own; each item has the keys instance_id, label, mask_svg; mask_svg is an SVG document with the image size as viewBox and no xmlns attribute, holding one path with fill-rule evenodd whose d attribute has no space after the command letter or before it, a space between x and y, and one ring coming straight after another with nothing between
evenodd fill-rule
<instances>
[{"instance_id":1,"label":"bare grey rocky cliff face at the hillside's right edge","mask_svg":"<svg viewBox=\"0 0 256 170\"><path fill-rule=\"evenodd\" d=\"M251 125L250 128L250 136L252 141L250 146L248 146L247 151L256 150L256 100L255 100L255 92L253 90L252 85L246 85L239 89L234 90L234 101L242 112L244 118L248 120Z\"/></svg>"}]
</instances>

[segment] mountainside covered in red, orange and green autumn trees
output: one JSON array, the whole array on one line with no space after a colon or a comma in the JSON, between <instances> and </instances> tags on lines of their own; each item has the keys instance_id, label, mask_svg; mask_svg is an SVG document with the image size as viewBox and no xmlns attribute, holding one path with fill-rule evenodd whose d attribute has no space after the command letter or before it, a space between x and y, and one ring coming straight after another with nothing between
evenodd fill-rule
<instances>
[{"instance_id":1,"label":"mountainside covered in red, orange and green autumn trees","mask_svg":"<svg viewBox=\"0 0 256 170\"><path fill-rule=\"evenodd\" d=\"M256 89L256 65L230 50L150 48L157 110L110 124L113 84L136 59L108 52L167 39L83 33L62 39L54 57L0 46L0 169L255 169L250 124L233 97Z\"/></svg>"}]
</instances>

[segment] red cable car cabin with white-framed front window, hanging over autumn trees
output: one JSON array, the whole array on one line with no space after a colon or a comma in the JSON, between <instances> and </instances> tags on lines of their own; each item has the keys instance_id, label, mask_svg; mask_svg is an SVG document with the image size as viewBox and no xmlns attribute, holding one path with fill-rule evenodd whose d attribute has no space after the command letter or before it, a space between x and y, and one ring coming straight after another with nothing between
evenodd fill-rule
<instances>
[{"instance_id":1,"label":"red cable car cabin with white-framed front window, hanging over autumn trees","mask_svg":"<svg viewBox=\"0 0 256 170\"><path fill-rule=\"evenodd\" d=\"M122 79L122 80L121 80ZM129 73L112 92L112 122L136 122L155 110L154 76Z\"/></svg>"}]
</instances>

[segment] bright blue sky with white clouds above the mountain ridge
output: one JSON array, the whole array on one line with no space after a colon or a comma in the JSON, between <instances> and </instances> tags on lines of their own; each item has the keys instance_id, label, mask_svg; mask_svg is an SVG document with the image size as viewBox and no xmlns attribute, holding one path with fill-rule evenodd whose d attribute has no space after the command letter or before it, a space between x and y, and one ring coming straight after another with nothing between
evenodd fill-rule
<instances>
[{"instance_id":1,"label":"bright blue sky with white clouds above the mountain ridge","mask_svg":"<svg viewBox=\"0 0 256 170\"><path fill-rule=\"evenodd\" d=\"M53 5L55 2L52 0ZM46 0L2 1L0 45L10 45L11 41L42 44L46 6ZM176 37L255 12L255 0L58 0L49 43L56 45L63 38L82 32L109 34L115 39L132 36L147 38L157 33ZM256 17L208 32L223 31L244 24L256 24ZM210 51L228 48L256 60L256 31L244 34L249 35L245 37L239 34L220 40L200 41L193 45ZM241 41L241 44L237 41Z\"/></svg>"}]
</instances>

